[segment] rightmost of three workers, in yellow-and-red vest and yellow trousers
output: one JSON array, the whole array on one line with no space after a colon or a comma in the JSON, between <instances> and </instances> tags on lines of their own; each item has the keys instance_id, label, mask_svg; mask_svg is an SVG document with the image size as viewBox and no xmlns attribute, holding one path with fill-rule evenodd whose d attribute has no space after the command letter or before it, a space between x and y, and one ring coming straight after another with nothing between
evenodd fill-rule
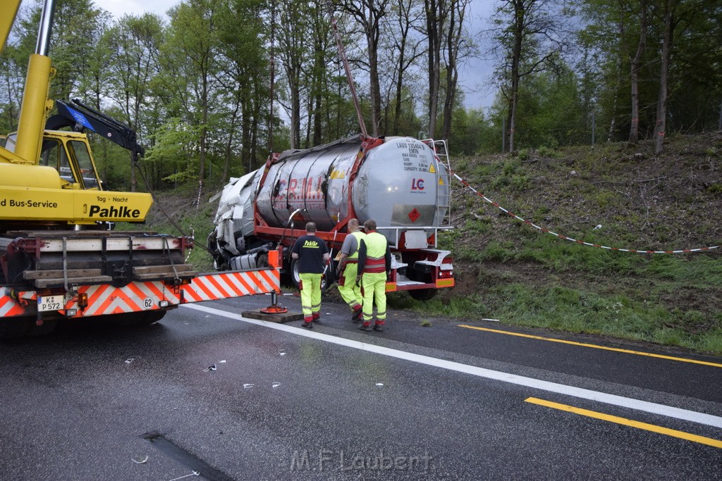
<instances>
[{"instance_id":1,"label":"rightmost of three workers, in yellow-and-red vest and yellow trousers","mask_svg":"<svg viewBox=\"0 0 722 481\"><path fill-rule=\"evenodd\" d=\"M363 292L363 324L359 329L383 331L386 325L386 280L391 274L391 250L386 237L376 231L376 221L364 222L366 235L359 242L358 275ZM376 319L373 320L373 305L376 304Z\"/></svg>"}]
</instances>

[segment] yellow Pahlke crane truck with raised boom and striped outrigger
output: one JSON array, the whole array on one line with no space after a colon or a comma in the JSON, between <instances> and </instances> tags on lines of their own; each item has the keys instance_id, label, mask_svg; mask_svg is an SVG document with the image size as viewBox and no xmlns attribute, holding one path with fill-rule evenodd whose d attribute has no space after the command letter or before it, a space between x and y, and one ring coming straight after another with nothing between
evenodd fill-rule
<instances>
[{"instance_id":1,"label":"yellow Pahlke crane truck with raised boom and striped outrigger","mask_svg":"<svg viewBox=\"0 0 722 481\"><path fill-rule=\"evenodd\" d=\"M0 48L19 4L3 4ZM142 148L126 125L80 102L48 99L54 4L43 6L17 133L0 147L0 338L44 334L63 318L150 323L180 304L279 291L277 256L269 268L199 274L185 262L188 237L108 230L144 221L152 195L104 190L82 131L136 158ZM58 114L48 118L53 106ZM74 131L57 130L67 126Z\"/></svg>"}]
</instances>

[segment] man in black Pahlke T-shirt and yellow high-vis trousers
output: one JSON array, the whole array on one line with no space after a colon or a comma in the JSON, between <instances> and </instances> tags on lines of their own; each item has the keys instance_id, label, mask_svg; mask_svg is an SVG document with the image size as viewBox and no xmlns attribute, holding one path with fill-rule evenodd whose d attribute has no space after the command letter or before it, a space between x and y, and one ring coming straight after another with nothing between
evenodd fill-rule
<instances>
[{"instance_id":1,"label":"man in black Pahlke T-shirt and yellow high-vis trousers","mask_svg":"<svg viewBox=\"0 0 722 481\"><path fill-rule=\"evenodd\" d=\"M306 329L313 328L313 321L321 317L321 275L329 262L329 247L316 237L316 224L306 224L306 235L293 244L291 257L296 260L300 277L301 310Z\"/></svg>"}]
</instances>

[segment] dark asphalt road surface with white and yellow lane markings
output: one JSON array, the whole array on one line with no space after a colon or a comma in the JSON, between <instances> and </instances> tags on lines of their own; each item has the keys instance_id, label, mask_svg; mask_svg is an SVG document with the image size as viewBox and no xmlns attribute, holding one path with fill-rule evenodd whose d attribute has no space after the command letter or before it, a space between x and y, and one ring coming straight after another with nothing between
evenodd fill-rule
<instances>
[{"instance_id":1,"label":"dark asphalt road surface with white and yellow lane markings","mask_svg":"<svg viewBox=\"0 0 722 481\"><path fill-rule=\"evenodd\" d=\"M0 343L0 479L722 480L721 358L393 311L367 333L331 302L310 332L240 318L267 304Z\"/></svg>"}]
</instances>

